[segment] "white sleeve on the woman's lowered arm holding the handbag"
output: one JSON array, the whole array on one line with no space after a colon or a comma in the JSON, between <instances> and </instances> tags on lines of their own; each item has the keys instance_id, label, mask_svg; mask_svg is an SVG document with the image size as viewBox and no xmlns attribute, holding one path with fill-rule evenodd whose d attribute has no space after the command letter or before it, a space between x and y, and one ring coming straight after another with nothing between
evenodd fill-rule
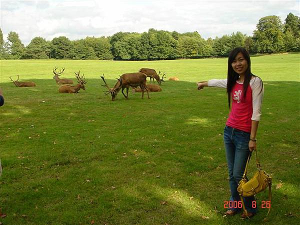
<instances>
[{"instance_id":1,"label":"white sleeve on the woman's lowered arm holding the handbag","mask_svg":"<svg viewBox=\"0 0 300 225\"><path fill-rule=\"evenodd\" d=\"M261 115L261 103L263 98L263 84L259 77L255 76L250 80L252 89L252 117L251 120L259 121Z\"/></svg>"}]
</instances>

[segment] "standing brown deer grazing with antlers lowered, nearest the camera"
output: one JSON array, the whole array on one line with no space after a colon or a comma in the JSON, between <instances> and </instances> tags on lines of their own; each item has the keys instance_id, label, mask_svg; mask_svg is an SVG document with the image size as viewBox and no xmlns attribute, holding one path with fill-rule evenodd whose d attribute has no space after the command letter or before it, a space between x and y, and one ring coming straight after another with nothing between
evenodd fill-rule
<instances>
[{"instance_id":1,"label":"standing brown deer grazing with antlers lowered, nearest the camera","mask_svg":"<svg viewBox=\"0 0 300 225\"><path fill-rule=\"evenodd\" d=\"M120 78L117 78L117 82L113 88L109 88L109 86L107 85L107 83L104 79L104 74L101 76L101 78L104 82L104 85L103 84L101 84L101 85L106 86L108 88L108 90L104 91L104 93L105 94L110 93L111 100L115 99L115 97L116 97L117 93L120 91L120 89L122 89L122 94L124 95L124 97L126 99L128 99L129 87L135 88L137 86L139 86L142 90L141 98L143 98L144 90L147 91L148 98L150 98L148 89L146 87L147 75L142 72L129 72L129 73L124 73L124 74L120 75ZM124 88L126 88L126 95L123 92Z\"/></svg>"}]
</instances>

